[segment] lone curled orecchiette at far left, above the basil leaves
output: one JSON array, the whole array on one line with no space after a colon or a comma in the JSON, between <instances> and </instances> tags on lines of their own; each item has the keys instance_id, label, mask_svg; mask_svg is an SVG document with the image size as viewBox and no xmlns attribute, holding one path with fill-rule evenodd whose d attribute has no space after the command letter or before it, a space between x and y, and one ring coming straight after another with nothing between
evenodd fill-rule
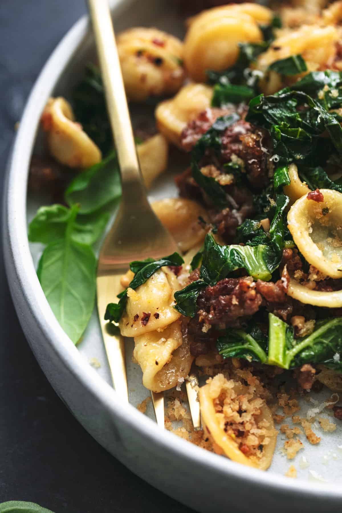
<instances>
[{"instance_id":1,"label":"lone curled orecchiette at far left, above the basil leaves","mask_svg":"<svg viewBox=\"0 0 342 513\"><path fill-rule=\"evenodd\" d=\"M43 115L43 129L51 155L69 167L87 168L100 162L96 144L74 120L71 105L62 97L50 98Z\"/></svg>"}]
</instances>

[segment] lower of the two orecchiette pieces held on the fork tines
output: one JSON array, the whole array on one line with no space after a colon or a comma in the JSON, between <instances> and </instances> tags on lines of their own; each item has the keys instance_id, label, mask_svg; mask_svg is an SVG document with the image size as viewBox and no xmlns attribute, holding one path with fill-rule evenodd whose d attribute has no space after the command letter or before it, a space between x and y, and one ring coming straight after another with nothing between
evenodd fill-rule
<instances>
[{"instance_id":1,"label":"lower of the two orecchiette pieces held on the fork tines","mask_svg":"<svg viewBox=\"0 0 342 513\"><path fill-rule=\"evenodd\" d=\"M190 372L194 357L188 338L182 338L181 324L178 320L134 339L133 356L142 368L143 384L153 392L173 388Z\"/></svg>"}]
</instances>

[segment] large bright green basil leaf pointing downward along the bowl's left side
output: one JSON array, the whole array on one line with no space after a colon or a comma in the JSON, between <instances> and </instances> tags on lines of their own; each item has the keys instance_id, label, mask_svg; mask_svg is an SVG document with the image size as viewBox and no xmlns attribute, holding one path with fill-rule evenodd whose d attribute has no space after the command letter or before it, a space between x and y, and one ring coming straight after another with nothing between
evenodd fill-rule
<instances>
[{"instance_id":1,"label":"large bright green basil leaf pointing downward along the bowl's left side","mask_svg":"<svg viewBox=\"0 0 342 513\"><path fill-rule=\"evenodd\" d=\"M76 344L94 308L96 259L90 246L72 238L75 215L64 238L46 246L37 275L57 321Z\"/></svg>"}]
</instances>

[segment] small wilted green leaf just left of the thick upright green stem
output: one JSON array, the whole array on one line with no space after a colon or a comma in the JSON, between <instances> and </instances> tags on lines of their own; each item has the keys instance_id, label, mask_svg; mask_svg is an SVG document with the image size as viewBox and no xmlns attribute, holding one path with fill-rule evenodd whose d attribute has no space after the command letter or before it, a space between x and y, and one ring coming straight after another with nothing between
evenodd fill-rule
<instances>
[{"instance_id":1,"label":"small wilted green leaf just left of the thick upright green stem","mask_svg":"<svg viewBox=\"0 0 342 513\"><path fill-rule=\"evenodd\" d=\"M230 329L225 337L219 337L216 344L219 354L223 358L244 358L260 363L267 362L267 354L263 347L243 330Z\"/></svg>"}]
</instances>

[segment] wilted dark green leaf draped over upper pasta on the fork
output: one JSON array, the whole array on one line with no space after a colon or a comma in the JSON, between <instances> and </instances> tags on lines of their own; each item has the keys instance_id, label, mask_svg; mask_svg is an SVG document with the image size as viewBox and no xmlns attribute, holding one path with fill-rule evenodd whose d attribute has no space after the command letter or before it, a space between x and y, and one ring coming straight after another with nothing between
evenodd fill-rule
<instances>
[{"instance_id":1,"label":"wilted dark green leaf draped over upper pasta on the fork","mask_svg":"<svg viewBox=\"0 0 342 513\"><path fill-rule=\"evenodd\" d=\"M143 265L144 264L144 265ZM127 290L128 288L136 289L140 285L143 285L143 283L146 283L147 280L154 274L160 267L164 266L179 266L184 264L183 258L178 253L172 253L169 257L164 257L159 260L153 260L153 259L147 259L145 261L139 262L135 261L132 262L133 269L136 269L137 272L129 284L129 286L123 291L120 292L117 295L117 298L119 298L119 302L116 303L109 303L107 305L106 313L105 313L105 321L109 322L115 322L118 323L122 314L124 313L124 310L126 308L128 296L127 296ZM131 269L132 269L131 267ZM133 270L132 269L132 270Z\"/></svg>"}]
</instances>

